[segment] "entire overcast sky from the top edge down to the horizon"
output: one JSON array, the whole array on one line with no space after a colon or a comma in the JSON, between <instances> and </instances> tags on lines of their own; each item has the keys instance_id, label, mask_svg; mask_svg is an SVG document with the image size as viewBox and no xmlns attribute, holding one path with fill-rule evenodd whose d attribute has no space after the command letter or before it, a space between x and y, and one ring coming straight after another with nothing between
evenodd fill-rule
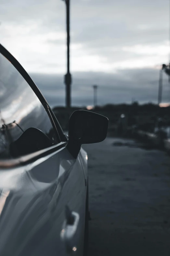
<instances>
[{"instance_id":1,"label":"entire overcast sky from the top edge down to the horizon","mask_svg":"<svg viewBox=\"0 0 170 256\"><path fill-rule=\"evenodd\" d=\"M64 105L65 4L0 0L0 43L51 106ZM159 65L169 57L169 0L71 0L72 104L157 102ZM163 102L170 85L163 80Z\"/></svg>"}]
</instances>

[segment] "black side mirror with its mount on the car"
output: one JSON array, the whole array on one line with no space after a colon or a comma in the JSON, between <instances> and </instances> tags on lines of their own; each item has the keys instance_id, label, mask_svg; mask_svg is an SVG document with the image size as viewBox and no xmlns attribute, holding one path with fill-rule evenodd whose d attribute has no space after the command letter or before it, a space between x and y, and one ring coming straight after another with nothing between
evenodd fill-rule
<instances>
[{"instance_id":1,"label":"black side mirror with its mount on the car","mask_svg":"<svg viewBox=\"0 0 170 256\"><path fill-rule=\"evenodd\" d=\"M108 118L85 110L74 111L69 120L67 148L77 157L82 144L98 143L107 136Z\"/></svg>"}]
</instances>

